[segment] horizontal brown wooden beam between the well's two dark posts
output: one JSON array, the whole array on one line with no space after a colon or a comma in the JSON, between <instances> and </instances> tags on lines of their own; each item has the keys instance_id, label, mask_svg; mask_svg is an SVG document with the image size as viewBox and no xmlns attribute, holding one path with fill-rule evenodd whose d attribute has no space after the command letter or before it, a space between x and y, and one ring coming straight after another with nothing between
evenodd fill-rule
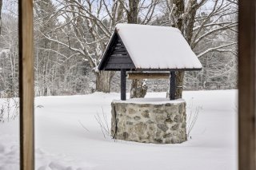
<instances>
[{"instance_id":1,"label":"horizontal brown wooden beam between the well's two dark posts","mask_svg":"<svg viewBox=\"0 0 256 170\"><path fill-rule=\"evenodd\" d=\"M169 79L170 73L128 73L128 79Z\"/></svg>"}]
</instances>

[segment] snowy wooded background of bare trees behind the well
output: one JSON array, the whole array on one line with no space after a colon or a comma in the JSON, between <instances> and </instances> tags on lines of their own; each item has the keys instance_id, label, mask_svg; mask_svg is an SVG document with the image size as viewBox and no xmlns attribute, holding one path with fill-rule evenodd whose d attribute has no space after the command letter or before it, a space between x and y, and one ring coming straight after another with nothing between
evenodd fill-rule
<instances>
[{"instance_id":1,"label":"snowy wooded background of bare trees behind the well","mask_svg":"<svg viewBox=\"0 0 256 170\"><path fill-rule=\"evenodd\" d=\"M17 0L0 0L0 14L0 97L17 97ZM203 69L176 73L177 96L181 86L237 88L237 0L34 0L35 95L119 92L119 73L97 66L114 26L123 22L182 31ZM128 81L127 90L132 86L140 97L146 89L166 91L168 82Z\"/></svg>"}]
</instances>

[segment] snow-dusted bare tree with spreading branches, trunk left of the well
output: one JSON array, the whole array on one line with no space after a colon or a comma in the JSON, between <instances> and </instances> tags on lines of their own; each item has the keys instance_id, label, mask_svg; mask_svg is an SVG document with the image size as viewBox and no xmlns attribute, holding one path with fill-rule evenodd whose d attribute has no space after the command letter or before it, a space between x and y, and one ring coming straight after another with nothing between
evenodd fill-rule
<instances>
[{"instance_id":1,"label":"snow-dusted bare tree with spreading branches, trunk left of the well","mask_svg":"<svg viewBox=\"0 0 256 170\"><path fill-rule=\"evenodd\" d=\"M149 23L154 18L155 1L147 4L143 1L123 0L58 0L58 11L50 14L65 20L52 31L60 30L64 37L57 38L43 34L51 42L58 43L86 59L96 77L96 90L110 92L110 81L114 72L103 72L97 69L102 59L102 53L114 30L120 22L137 22L138 9L143 10L140 16L141 23ZM154 3L153 3L154 2ZM146 7L150 7L145 10ZM152 7L151 7L152 6ZM141 11L142 11L141 10Z\"/></svg>"}]
</instances>

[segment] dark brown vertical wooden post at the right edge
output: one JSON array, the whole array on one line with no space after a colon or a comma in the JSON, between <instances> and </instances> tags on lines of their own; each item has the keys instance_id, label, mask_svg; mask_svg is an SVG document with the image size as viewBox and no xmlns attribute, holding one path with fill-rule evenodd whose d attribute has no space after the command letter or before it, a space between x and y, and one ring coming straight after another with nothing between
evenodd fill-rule
<instances>
[{"instance_id":1,"label":"dark brown vertical wooden post at the right edge","mask_svg":"<svg viewBox=\"0 0 256 170\"><path fill-rule=\"evenodd\" d=\"M238 1L238 168L256 169L255 0Z\"/></svg>"}]
</instances>

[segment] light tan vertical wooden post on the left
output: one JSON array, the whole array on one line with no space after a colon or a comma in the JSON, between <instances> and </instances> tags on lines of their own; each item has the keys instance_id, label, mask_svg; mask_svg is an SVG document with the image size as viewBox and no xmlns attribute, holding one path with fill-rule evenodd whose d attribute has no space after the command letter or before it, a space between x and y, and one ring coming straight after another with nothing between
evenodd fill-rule
<instances>
[{"instance_id":1,"label":"light tan vertical wooden post on the left","mask_svg":"<svg viewBox=\"0 0 256 170\"><path fill-rule=\"evenodd\" d=\"M33 0L18 1L20 169L34 170Z\"/></svg>"}]
</instances>

